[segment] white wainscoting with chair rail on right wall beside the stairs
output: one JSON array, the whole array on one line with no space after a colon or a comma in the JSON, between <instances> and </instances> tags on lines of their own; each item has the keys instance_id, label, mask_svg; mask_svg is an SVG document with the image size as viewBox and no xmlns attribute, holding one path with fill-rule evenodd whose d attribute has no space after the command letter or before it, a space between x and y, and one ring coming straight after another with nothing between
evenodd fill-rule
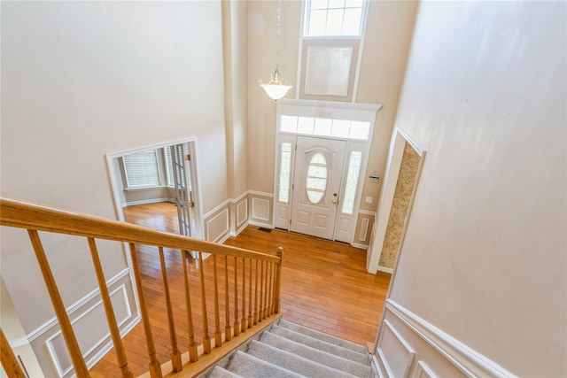
<instances>
[{"instance_id":1,"label":"white wainscoting with chair rail on right wall beside the stairs","mask_svg":"<svg viewBox=\"0 0 567 378\"><path fill-rule=\"evenodd\" d=\"M392 299L384 306L375 356L390 377L515 377Z\"/></svg>"}]
</instances>

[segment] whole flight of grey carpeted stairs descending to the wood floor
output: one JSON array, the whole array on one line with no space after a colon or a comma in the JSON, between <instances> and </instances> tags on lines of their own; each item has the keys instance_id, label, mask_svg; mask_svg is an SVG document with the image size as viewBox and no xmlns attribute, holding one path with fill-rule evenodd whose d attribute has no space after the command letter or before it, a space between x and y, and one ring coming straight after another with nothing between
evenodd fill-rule
<instances>
[{"instance_id":1,"label":"whole flight of grey carpeted stairs descending to the wood floor","mask_svg":"<svg viewBox=\"0 0 567 378\"><path fill-rule=\"evenodd\" d=\"M366 347L281 319L205 376L371 378L374 374Z\"/></svg>"}]
</instances>

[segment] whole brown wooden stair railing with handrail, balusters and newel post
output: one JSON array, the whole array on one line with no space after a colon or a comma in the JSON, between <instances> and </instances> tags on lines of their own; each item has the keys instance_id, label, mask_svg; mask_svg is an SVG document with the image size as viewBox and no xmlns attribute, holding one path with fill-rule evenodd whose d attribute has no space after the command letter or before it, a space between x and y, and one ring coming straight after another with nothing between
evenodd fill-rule
<instances>
[{"instance_id":1,"label":"whole brown wooden stair railing with handrail, balusters and newel post","mask_svg":"<svg viewBox=\"0 0 567 378\"><path fill-rule=\"evenodd\" d=\"M187 337L189 339L187 349L189 365L196 363L204 354L211 353L212 339L214 340L214 348L220 348L223 341L229 342L244 333L247 329L260 324L261 321L266 320L271 315L280 313L282 247L278 248L276 256L274 256L206 242L188 236L169 234L116 220L106 220L87 214L62 211L43 205L29 204L8 198L0 198L0 225L4 227L27 229L30 242L35 251L35 257L42 271L43 280L48 289L51 303L66 343L67 351L73 362L74 374L79 377L89 376L89 370L83 359L79 344L77 343L74 329L67 316L65 305L59 294L57 282L55 282L53 274L51 273L50 264L43 249L39 232L82 236L87 239L93 267L97 276L98 288L100 289L105 308L108 328L112 336L113 347L122 377L132 377L133 374L128 369L126 351L120 338L120 330L116 322L112 301L106 286L105 274L97 251L97 239L128 243L128 250L132 262L131 270L135 278L140 316L144 325L144 335L149 359L148 368L152 378L162 377L163 373L159 359L156 357L156 349L151 331L151 320L145 305L144 282L140 272L136 246L157 247L164 296L166 299L165 311L167 312L168 318L169 338L171 343L171 366L173 372L183 371L183 368L188 364L183 366L182 353L177 345L177 333L169 293L164 249L178 250L182 255L186 307L185 317L188 329ZM188 271L188 262L190 259L189 251L198 252L199 288L193 287L195 280L190 282L190 272ZM210 258L213 259L213 274L210 274L210 272L207 273L207 279L209 279L211 275L213 277L213 299L208 298L206 293L207 285L203 253L211 254ZM217 272L217 262L220 260L223 262L222 265L224 266L224 269L221 268L223 272L220 274L224 277L222 280L224 283L223 293L225 299L223 310L226 319L223 328L224 332L221 332L220 285L218 280L219 274ZM234 270L234 274L229 274L229 270ZM233 289L232 298L229 298L229 287ZM193 323L193 314L198 305L191 305L191 297L200 297L200 313L203 314L203 335L201 339L202 343L199 347L202 351L201 354L198 352L198 342L196 341ZM213 305L214 307L214 331L212 337L210 336L208 327L207 305ZM230 324L232 321L230 315L231 311L234 315L232 325ZM3 352L5 346L4 341L3 339ZM7 342L5 344L7 344ZM8 367L4 366L4 360ZM2 364L7 372L8 368L18 369L19 367L14 366L14 361L10 359L9 355L4 359L4 353ZM17 372L15 374L17 374Z\"/></svg>"}]
</instances>

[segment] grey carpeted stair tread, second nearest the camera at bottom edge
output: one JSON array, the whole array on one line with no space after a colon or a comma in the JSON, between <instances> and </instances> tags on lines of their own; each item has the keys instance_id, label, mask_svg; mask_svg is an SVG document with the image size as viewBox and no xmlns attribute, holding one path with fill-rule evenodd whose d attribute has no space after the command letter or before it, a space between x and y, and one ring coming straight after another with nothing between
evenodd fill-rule
<instances>
[{"instance_id":1,"label":"grey carpeted stair tread, second nearest the camera at bottom edge","mask_svg":"<svg viewBox=\"0 0 567 378\"><path fill-rule=\"evenodd\" d=\"M302 375L283 367L257 359L244 351L236 351L230 359L227 370L246 378L300 378Z\"/></svg>"}]
</instances>

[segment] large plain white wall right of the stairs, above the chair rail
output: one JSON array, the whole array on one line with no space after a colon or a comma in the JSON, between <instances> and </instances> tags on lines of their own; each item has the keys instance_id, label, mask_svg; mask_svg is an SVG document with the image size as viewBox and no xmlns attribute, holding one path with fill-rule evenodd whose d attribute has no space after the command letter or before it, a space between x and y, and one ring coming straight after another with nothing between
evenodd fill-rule
<instances>
[{"instance_id":1,"label":"large plain white wall right of the stairs, above the chair rail","mask_svg":"<svg viewBox=\"0 0 567 378\"><path fill-rule=\"evenodd\" d=\"M423 2L396 119L427 157L392 304L530 377L567 375L565 11Z\"/></svg>"}]
</instances>

